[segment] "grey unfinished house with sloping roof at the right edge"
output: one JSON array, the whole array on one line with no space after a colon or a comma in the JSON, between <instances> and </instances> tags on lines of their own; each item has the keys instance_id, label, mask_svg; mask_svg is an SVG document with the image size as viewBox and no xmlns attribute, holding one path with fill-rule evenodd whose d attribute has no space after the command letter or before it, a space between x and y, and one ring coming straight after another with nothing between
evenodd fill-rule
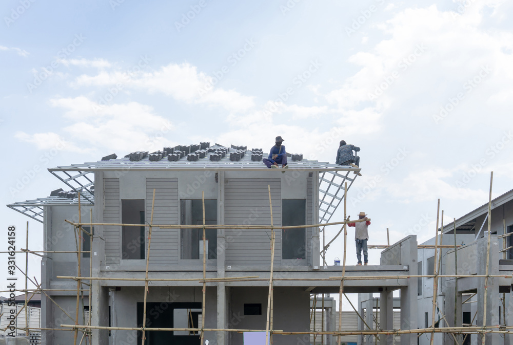
<instances>
[{"instance_id":1,"label":"grey unfinished house with sloping roof at the right edge","mask_svg":"<svg viewBox=\"0 0 513 345\"><path fill-rule=\"evenodd\" d=\"M445 246L455 244L454 229L456 227L457 257L453 248L442 248L441 269L439 274L455 275L455 264L458 262L459 275L485 275L487 266L487 235L488 229L488 203L465 214L463 217L443 227L442 243L440 235L438 243ZM495 198L491 202L491 240L490 240L490 275L505 275L511 277L513 272L513 239L503 236L513 232L513 190ZM422 245L435 245L435 238ZM433 274L435 265L435 249L422 249L418 251L419 274ZM458 292L455 289L454 277L441 277L438 282L438 306L435 321L436 327L453 327L455 308L456 326L482 326L484 310L484 277L460 277ZM489 277L487 284L487 321L486 325L513 325L513 299L510 298L511 278ZM433 278L419 278L419 314L420 328L431 327ZM504 308L504 306L506 306ZM443 316L448 323L444 321ZM509 344L513 341L510 335L489 334L487 344ZM452 344L454 338L450 334L435 334L435 343ZM481 336L472 334L466 336L456 335L460 344L475 344L481 341ZM429 344L430 338L419 337L419 344Z\"/></svg>"}]
</instances>

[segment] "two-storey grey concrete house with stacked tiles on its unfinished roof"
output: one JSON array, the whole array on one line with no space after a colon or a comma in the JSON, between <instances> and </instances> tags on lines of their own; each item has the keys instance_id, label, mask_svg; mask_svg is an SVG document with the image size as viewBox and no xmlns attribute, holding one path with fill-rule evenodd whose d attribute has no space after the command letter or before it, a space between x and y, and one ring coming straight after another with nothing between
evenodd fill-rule
<instances>
[{"instance_id":1,"label":"two-storey grey concrete house with stacked tiles on its unfinished roof","mask_svg":"<svg viewBox=\"0 0 513 345\"><path fill-rule=\"evenodd\" d=\"M42 327L72 325L75 317L77 283L57 276L84 276L119 280L85 281L92 285L89 305L88 286L82 285L84 305L78 325L86 325L89 311L92 326L141 327L143 323L144 278L149 256L150 278L194 278L195 281L150 281L146 327L197 328L202 323L203 241L201 224L202 192L206 224L271 225L271 191L274 226L299 226L326 223L343 199L359 169L350 166L310 161L291 155L289 169L267 169L261 162L261 149L225 147L209 143L166 147L162 152L136 152L125 158L115 155L93 163L58 166L49 171L73 190L57 190L48 198L8 205L44 224L45 250L42 259L43 289L55 301L43 297ZM155 190L154 207L153 190ZM81 211L78 214L78 195ZM153 214L152 214L153 210ZM153 215L153 218L151 218ZM82 243L78 272L74 228L65 220L106 224L85 226L93 232ZM109 224L152 223L151 248L147 253L147 226ZM198 225L194 229L160 228L159 225ZM205 328L266 328L269 271L271 262L269 229L207 229L206 276L224 278L259 276L257 281L207 283ZM416 328L417 281L411 279L374 280L378 275L412 275L417 266L415 236L398 242L382 255L382 265L347 267L346 275L365 275L369 279L348 281L348 293L401 289L401 318ZM58 252L54 252L58 251ZM63 251L67 251L63 253ZM273 329L308 331L310 293L336 293L341 266L320 267L319 228L310 227L276 232L273 283ZM389 255L393 253L393 255ZM90 266L92 262L92 267ZM91 272L91 273L90 273ZM123 280L125 279L125 280ZM309 280L307 280L309 279ZM313 279L313 280L312 280ZM317 280L318 279L318 280ZM411 281L411 284L408 283ZM61 291L58 291L61 290ZM57 307L60 306L63 310ZM391 310L391 304L388 306ZM391 314L390 314L391 315ZM391 327L391 320L389 322ZM386 324L386 322L385 322ZM404 324L404 322L403 322ZM334 328L333 330L336 330ZM80 335L82 333L79 333ZM92 343L141 343L141 332L92 330ZM73 332L43 332L43 343L69 343ZM146 332L146 344L199 343L198 332ZM218 344L241 344L238 332L205 332L205 339ZM280 344L297 344L300 337L273 335ZM415 335L402 336L402 343L416 343ZM308 340L307 340L308 342ZM307 343L305 342L305 343Z\"/></svg>"}]
</instances>

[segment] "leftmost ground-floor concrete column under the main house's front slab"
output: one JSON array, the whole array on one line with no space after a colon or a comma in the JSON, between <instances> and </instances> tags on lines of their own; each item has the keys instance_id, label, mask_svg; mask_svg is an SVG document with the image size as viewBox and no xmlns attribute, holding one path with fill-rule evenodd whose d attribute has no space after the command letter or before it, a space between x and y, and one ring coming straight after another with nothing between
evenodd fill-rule
<instances>
[{"instance_id":1,"label":"leftmost ground-floor concrete column under the main house's front slab","mask_svg":"<svg viewBox=\"0 0 513 345\"><path fill-rule=\"evenodd\" d=\"M92 326L109 325L109 289L101 286L100 281L92 281L92 306L89 309L91 313ZM108 330L92 330L91 342L96 345L109 345Z\"/></svg>"}]
</instances>

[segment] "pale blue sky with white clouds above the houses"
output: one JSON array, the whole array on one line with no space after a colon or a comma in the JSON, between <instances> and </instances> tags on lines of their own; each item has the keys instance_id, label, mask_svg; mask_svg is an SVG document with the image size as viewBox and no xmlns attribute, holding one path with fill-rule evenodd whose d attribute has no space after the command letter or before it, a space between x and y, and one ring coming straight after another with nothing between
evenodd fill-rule
<instances>
[{"instance_id":1,"label":"pale blue sky with white clouds above the houses","mask_svg":"<svg viewBox=\"0 0 513 345\"><path fill-rule=\"evenodd\" d=\"M494 197L513 188L513 2L6 0L0 14L4 205L66 189L58 165L278 135L331 163L340 140L361 148L347 211L371 218L369 244L387 228L428 240L437 200L445 224L461 217L488 201L490 171ZM0 208L1 251L12 225L25 248L28 220ZM33 255L29 272L40 281Z\"/></svg>"}]
</instances>

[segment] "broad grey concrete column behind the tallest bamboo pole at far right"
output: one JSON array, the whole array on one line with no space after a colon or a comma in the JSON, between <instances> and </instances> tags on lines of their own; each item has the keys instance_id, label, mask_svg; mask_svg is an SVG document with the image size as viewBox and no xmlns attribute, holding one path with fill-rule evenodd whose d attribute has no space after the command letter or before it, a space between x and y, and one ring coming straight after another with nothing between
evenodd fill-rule
<instances>
[{"instance_id":1,"label":"broad grey concrete column behind the tallest bamboo pole at far right","mask_svg":"<svg viewBox=\"0 0 513 345\"><path fill-rule=\"evenodd\" d=\"M478 240L477 244L477 274L486 274L486 251L488 241L487 238ZM497 235L491 235L490 238L490 261L488 267L488 274L499 274L499 243ZM478 283L478 326L485 325L483 322L484 316L484 295L485 295L485 278ZM488 287L486 289L486 325L499 324L499 278L488 278ZM481 341L481 337L478 337ZM487 334L485 344L498 344L502 342L499 334Z\"/></svg>"}]
</instances>

